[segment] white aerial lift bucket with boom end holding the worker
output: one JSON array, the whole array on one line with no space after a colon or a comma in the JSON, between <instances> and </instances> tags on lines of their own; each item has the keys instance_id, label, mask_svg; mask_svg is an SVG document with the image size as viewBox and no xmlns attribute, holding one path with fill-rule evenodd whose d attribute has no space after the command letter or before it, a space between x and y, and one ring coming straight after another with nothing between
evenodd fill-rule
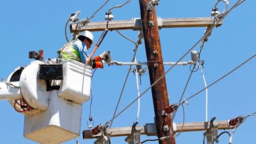
<instances>
[{"instance_id":1,"label":"white aerial lift bucket with boom end holding the worker","mask_svg":"<svg viewBox=\"0 0 256 144\"><path fill-rule=\"evenodd\" d=\"M63 143L80 134L83 102L90 98L92 67L78 61L35 60L0 82L0 99L24 115L24 137Z\"/></svg>"}]
</instances>

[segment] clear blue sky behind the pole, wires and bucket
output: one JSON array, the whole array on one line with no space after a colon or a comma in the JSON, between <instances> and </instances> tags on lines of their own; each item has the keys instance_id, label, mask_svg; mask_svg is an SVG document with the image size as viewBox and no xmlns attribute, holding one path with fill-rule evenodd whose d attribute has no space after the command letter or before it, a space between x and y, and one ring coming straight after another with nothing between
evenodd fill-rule
<instances>
[{"instance_id":1,"label":"clear blue sky behind the pole, wires and bucket","mask_svg":"<svg viewBox=\"0 0 256 144\"><path fill-rule=\"evenodd\" d=\"M44 50L44 57L56 58L58 49L67 41L65 40L65 23L71 13L81 11L79 18L86 19L102 6L105 1L2 1L1 3L1 57L0 77L5 79L20 66L29 65L32 59L28 58L29 51ZM125 1L109 1L91 22L104 21L108 9ZM216 0L180 0L161 1L157 6L157 16L161 18L183 18L183 17L211 17L211 10ZM236 3L230 0L229 8ZM225 4L220 2L222 12ZM205 61L203 72L206 83L209 85L224 76L233 68L246 61L256 53L256 12L255 1L245 1L232 10L223 20L222 26L214 28L208 42L205 43L201 59ZM112 10L114 20L131 20L140 17L140 6L138 1L131 1L122 8ZM164 62L175 62L180 59L198 40L204 35L205 28L164 28L159 31L161 49ZM67 29L68 38L72 34ZM138 31L121 31L125 36L135 42L138 40ZM102 32L94 32L95 41L99 39ZM144 43L144 41L143 41ZM200 44L196 45L199 51ZM94 45L93 45L94 47ZM93 47L90 49L92 51ZM116 31L109 31L102 44L95 52L111 51L112 60L130 62L133 56L134 44L119 35ZM137 61L147 61L145 45L141 44L136 54ZM181 61L190 60L190 55ZM241 68L208 88L208 118L214 116L216 120L229 120L236 116L246 116L256 111L256 58L248 61ZM133 67L134 68L134 67ZM145 66L143 66L145 68ZM170 66L166 65L165 70ZM105 124L111 120L120 97L125 77L129 66L108 65L104 69L98 69L92 78L92 116L94 126ZM174 67L166 74L166 84L170 104L178 103L188 80L189 66ZM143 93L150 86L148 72L141 77L140 92ZM200 70L193 73L183 99L187 99L194 93L204 88L204 80ZM132 72L129 74L124 93L118 107L118 111L124 109L130 102L138 97L136 92L136 77ZM141 97L140 116L138 125L154 122L154 108L151 91ZM184 105L185 122L205 121L205 91L188 100L189 105ZM0 143L36 143L23 137L24 115L17 113L8 100L0 101ZM90 102L83 104L83 119L79 143L93 143L93 140L83 140L83 130L88 129ZM117 111L117 112L118 112ZM136 121L138 102L118 116L112 127L131 126ZM183 111L177 111L174 122L182 123ZM254 143L255 116L250 116L237 128L232 143ZM220 130L223 132L223 130ZM228 132L232 132L228 130ZM203 143L204 131L182 132L176 143ZM141 136L141 141L156 139L156 136ZM112 143L126 143L125 137L111 138ZM205 141L206 142L206 141ZM76 143L75 140L65 142ZM146 142L146 143L158 143ZM228 143L228 136L220 137L220 144Z\"/></svg>"}]
</instances>

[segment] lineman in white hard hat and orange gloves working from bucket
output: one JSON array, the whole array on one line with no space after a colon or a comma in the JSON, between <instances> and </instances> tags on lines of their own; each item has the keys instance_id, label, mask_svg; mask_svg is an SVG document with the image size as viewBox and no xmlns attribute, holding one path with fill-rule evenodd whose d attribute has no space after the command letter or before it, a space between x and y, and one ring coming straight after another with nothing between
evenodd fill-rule
<instances>
[{"instance_id":1,"label":"lineman in white hard hat and orange gloves working from bucket","mask_svg":"<svg viewBox=\"0 0 256 144\"><path fill-rule=\"evenodd\" d=\"M76 35L75 40L68 42L58 50L58 58L61 58L62 60L71 59L86 63L89 58L87 51L93 43L92 33L90 31L82 31L79 35ZM108 59L108 56L109 51L105 51L90 60L88 65L92 68L104 68L104 60Z\"/></svg>"}]
</instances>

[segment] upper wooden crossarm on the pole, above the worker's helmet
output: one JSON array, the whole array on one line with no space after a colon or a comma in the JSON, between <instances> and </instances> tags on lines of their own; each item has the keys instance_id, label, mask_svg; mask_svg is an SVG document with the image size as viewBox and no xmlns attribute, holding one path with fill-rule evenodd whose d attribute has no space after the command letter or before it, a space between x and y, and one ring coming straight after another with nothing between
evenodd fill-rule
<instances>
[{"instance_id":1,"label":"upper wooden crossarm on the pole, above the worker's helmet","mask_svg":"<svg viewBox=\"0 0 256 144\"><path fill-rule=\"evenodd\" d=\"M207 27L212 26L211 17L197 17L197 18L167 18L161 19L157 17L157 24L159 29L161 28L186 28L186 27ZM221 26L220 22L217 26ZM105 22L89 22L83 24L83 21L70 24L70 32L81 32L84 30L88 31L104 31L109 30L122 30L122 29L133 29L134 31L141 30L141 19L133 18L132 20L113 20Z\"/></svg>"}]
</instances>

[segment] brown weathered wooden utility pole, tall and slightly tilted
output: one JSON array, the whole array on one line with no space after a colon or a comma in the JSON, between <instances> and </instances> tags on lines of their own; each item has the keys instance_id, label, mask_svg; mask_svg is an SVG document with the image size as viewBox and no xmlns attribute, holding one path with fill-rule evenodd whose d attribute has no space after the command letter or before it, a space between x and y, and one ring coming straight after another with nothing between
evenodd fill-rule
<instances>
[{"instance_id":1,"label":"brown weathered wooden utility pole, tall and slightly tilted","mask_svg":"<svg viewBox=\"0 0 256 144\"><path fill-rule=\"evenodd\" d=\"M140 0L141 25L147 53L148 72L152 86L152 97L155 111L155 125L158 138L174 134L170 114L163 113L169 106L168 93L164 74L163 57L159 38L159 28L155 8L148 8L147 0ZM170 134L170 132L172 132ZM175 144L174 136L166 140L159 140L159 144Z\"/></svg>"}]
</instances>

